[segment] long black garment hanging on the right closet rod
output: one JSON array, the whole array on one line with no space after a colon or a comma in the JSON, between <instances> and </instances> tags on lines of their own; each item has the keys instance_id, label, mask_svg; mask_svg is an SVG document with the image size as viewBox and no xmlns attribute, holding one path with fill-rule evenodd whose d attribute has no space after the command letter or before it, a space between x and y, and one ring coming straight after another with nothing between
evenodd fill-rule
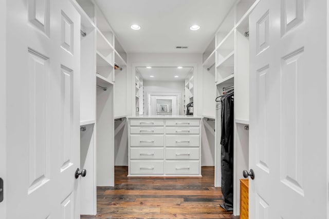
<instances>
[{"instance_id":1,"label":"long black garment hanging on the right closet rod","mask_svg":"<svg viewBox=\"0 0 329 219\"><path fill-rule=\"evenodd\" d=\"M221 97L222 105L222 194L221 207L233 211L233 119L234 91L230 90Z\"/></svg>"}]
</instances>

